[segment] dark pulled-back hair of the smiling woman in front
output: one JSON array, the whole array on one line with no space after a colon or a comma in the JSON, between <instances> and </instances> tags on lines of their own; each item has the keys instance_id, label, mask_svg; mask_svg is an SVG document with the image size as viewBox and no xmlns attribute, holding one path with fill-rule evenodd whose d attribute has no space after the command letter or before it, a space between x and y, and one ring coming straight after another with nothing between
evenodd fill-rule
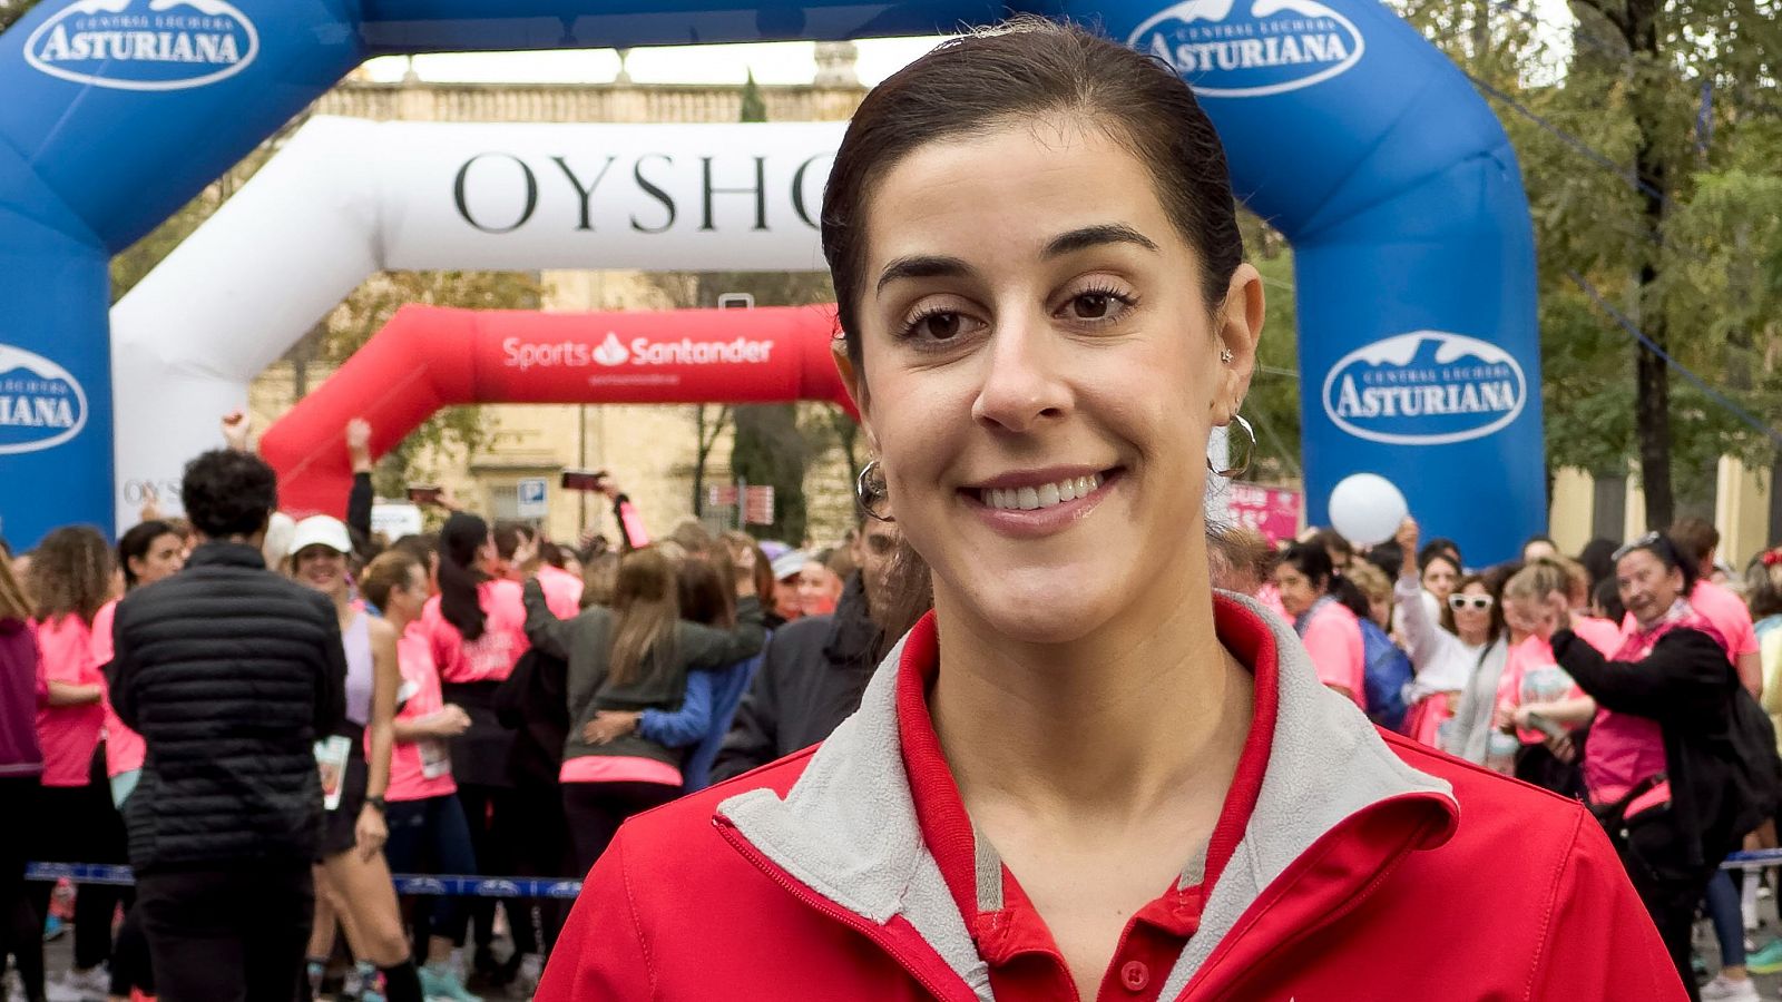
<instances>
[{"instance_id":1,"label":"dark pulled-back hair of the smiling woman in front","mask_svg":"<svg viewBox=\"0 0 1782 1002\"><path fill-rule=\"evenodd\" d=\"M1224 146L1194 91L1164 62L1075 25L1018 18L948 39L866 94L823 189L823 257L848 358L861 365L871 191L916 150L1034 118L1099 128L1144 162L1157 198L1201 260L1208 308L1244 262Z\"/></svg>"}]
</instances>

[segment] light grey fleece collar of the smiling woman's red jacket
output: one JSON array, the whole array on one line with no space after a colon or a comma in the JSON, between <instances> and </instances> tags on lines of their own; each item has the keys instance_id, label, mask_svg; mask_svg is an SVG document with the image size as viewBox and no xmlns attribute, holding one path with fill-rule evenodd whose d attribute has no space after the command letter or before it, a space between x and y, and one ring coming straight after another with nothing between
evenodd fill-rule
<instances>
[{"instance_id":1,"label":"light grey fleece collar of the smiling woman's red jacket","mask_svg":"<svg viewBox=\"0 0 1782 1002\"><path fill-rule=\"evenodd\" d=\"M1174 998L1253 900L1326 831L1356 811L1404 793L1452 799L1442 779L1399 760L1354 702L1324 688L1294 631L1242 595L1274 633L1279 706L1269 767L1244 838L1206 897L1199 931L1164 982ZM750 790L718 804L736 831L813 891L879 925L902 915L984 1002L989 966L978 957L941 868L921 840L898 743L896 676L903 645L886 656L861 708L811 756L782 801ZM1000 897L1000 863L978 840L980 899ZM1192 877L1205 852L1187 861ZM994 872L994 879L985 879ZM1185 877L1185 879L1187 879ZM1189 881L1192 883L1192 881Z\"/></svg>"}]
</instances>

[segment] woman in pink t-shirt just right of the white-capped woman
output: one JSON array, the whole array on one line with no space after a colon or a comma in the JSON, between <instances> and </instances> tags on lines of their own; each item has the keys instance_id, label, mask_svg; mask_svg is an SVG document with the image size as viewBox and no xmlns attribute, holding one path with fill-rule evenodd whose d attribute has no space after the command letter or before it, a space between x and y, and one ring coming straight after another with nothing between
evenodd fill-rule
<instances>
[{"instance_id":1,"label":"woman in pink t-shirt just right of the white-capped woman","mask_svg":"<svg viewBox=\"0 0 1782 1002\"><path fill-rule=\"evenodd\" d=\"M428 569L412 554L392 549L365 567L360 590L396 629L396 660L403 672L385 792L390 840L383 854L397 874L474 875L470 824L458 802L449 752L449 742L470 727L470 715L440 695L438 669L421 626L428 604ZM417 925L424 925L428 936L421 988L429 998L460 998L463 984L453 970L451 952L463 941L469 915L454 897L428 904L431 909L424 922L417 915Z\"/></svg>"}]
</instances>

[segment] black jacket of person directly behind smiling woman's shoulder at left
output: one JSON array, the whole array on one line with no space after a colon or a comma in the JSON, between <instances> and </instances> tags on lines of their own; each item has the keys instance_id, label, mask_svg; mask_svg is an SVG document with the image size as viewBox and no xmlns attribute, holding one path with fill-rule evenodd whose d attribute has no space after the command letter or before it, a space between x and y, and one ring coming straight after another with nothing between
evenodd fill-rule
<instances>
[{"instance_id":1,"label":"black jacket of person directly behind smiling woman's shoulder at left","mask_svg":"<svg viewBox=\"0 0 1782 1002\"><path fill-rule=\"evenodd\" d=\"M861 708L886 647L884 631L866 613L866 588L854 574L834 615L813 615L773 631L761 670L718 749L713 783L825 740Z\"/></svg>"}]
</instances>

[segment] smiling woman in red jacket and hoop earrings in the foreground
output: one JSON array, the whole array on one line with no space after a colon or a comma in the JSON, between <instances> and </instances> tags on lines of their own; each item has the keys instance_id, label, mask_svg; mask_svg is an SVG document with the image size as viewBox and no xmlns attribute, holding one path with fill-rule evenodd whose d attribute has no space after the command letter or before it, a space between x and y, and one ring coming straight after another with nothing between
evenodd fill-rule
<instances>
[{"instance_id":1,"label":"smiling woman in red jacket and hoop earrings in the foreground","mask_svg":"<svg viewBox=\"0 0 1782 1002\"><path fill-rule=\"evenodd\" d=\"M934 610L820 749L627 824L538 998L1682 997L1579 806L1383 736L1214 590L1263 296L1162 62L936 48L850 123L823 250Z\"/></svg>"}]
</instances>

